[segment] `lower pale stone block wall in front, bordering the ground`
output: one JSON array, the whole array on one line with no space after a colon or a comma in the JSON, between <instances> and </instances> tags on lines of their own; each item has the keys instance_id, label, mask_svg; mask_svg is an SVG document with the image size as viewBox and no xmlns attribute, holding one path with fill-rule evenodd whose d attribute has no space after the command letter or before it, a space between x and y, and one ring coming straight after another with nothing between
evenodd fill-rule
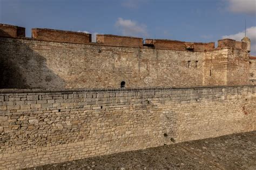
<instances>
[{"instance_id":1,"label":"lower pale stone block wall in front, bordering the ground","mask_svg":"<svg viewBox=\"0 0 256 170\"><path fill-rule=\"evenodd\" d=\"M0 90L0 169L255 130L256 86Z\"/></svg>"}]
</instances>

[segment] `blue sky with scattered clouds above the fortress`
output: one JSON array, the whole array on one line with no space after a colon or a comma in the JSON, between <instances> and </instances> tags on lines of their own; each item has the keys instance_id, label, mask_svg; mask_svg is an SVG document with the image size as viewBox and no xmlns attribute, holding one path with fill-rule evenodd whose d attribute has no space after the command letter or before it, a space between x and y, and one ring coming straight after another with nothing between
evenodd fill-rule
<instances>
[{"instance_id":1,"label":"blue sky with scattered clouds above the fortress","mask_svg":"<svg viewBox=\"0 0 256 170\"><path fill-rule=\"evenodd\" d=\"M209 42L240 40L246 19L255 55L255 11L256 0L0 0L0 23L26 27L27 37L42 27Z\"/></svg>"}]
</instances>

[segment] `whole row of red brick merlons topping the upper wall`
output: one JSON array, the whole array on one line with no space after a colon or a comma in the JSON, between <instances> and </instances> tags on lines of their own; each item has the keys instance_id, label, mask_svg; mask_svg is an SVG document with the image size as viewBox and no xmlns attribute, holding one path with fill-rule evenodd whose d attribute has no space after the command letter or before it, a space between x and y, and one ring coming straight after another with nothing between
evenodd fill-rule
<instances>
[{"instance_id":1,"label":"whole row of red brick merlons topping the upper wall","mask_svg":"<svg viewBox=\"0 0 256 170\"><path fill-rule=\"evenodd\" d=\"M52 29L31 30L32 40L66 42L77 44L92 44L91 34L83 32L62 31ZM25 28L0 24L0 37L25 38ZM250 52L250 39L244 38L242 41L232 39L218 40L218 47L214 47L214 42L185 42L167 39L145 39L138 37L115 36L111 34L97 34L96 43L94 45L119 46L119 47L135 47L135 48L154 48L154 49L170 49L177 51L204 52L214 49L235 48Z\"/></svg>"}]
</instances>

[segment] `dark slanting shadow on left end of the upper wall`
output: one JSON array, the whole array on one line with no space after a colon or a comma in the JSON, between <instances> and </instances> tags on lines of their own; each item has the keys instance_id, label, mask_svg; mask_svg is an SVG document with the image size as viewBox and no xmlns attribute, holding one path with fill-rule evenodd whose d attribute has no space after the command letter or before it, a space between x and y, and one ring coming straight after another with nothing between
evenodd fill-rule
<instances>
[{"instance_id":1,"label":"dark slanting shadow on left end of the upper wall","mask_svg":"<svg viewBox=\"0 0 256 170\"><path fill-rule=\"evenodd\" d=\"M6 88L65 88L65 82L22 39L0 37L0 89Z\"/></svg>"}]
</instances>

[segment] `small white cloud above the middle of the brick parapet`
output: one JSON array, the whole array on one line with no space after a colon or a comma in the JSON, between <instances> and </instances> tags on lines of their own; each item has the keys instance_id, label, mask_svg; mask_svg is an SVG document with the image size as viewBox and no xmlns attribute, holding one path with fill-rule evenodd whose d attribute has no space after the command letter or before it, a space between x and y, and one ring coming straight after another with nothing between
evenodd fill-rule
<instances>
[{"instance_id":1,"label":"small white cloud above the middle of the brick parapet","mask_svg":"<svg viewBox=\"0 0 256 170\"><path fill-rule=\"evenodd\" d=\"M138 24L130 19L118 18L115 25L123 36L147 36L147 26Z\"/></svg>"}]
</instances>

